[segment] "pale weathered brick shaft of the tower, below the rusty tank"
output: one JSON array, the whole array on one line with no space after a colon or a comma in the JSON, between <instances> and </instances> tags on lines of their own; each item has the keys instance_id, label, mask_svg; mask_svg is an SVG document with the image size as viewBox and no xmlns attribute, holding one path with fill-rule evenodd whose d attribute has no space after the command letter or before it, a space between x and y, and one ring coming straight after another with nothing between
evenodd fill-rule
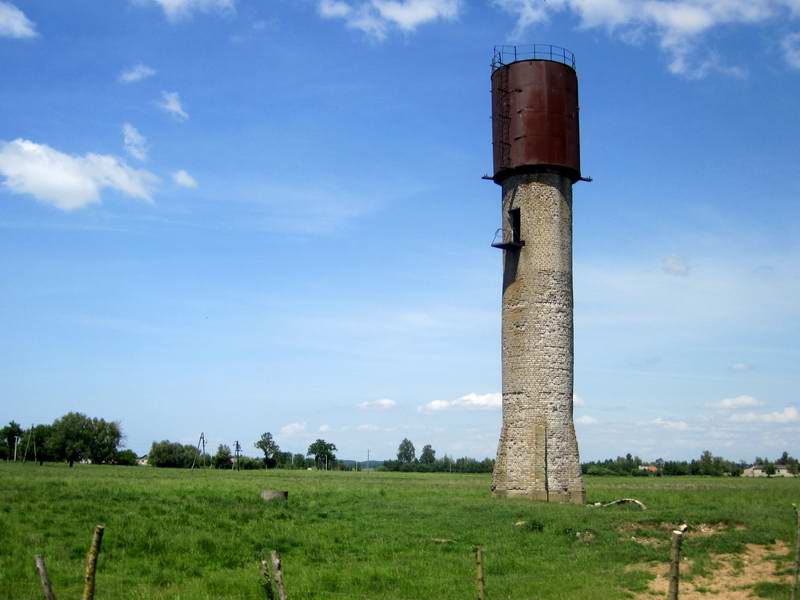
<instances>
[{"instance_id":1,"label":"pale weathered brick shaft of the tower, below the rusty tank","mask_svg":"<svg viewBox=\"0 0 800 600\"><path fill-rule=\"evenodd\" d=\"M503 182L503 227L520 210L521 249L503 252L503 426L492 489L585 501L572 419L572 182L554 173Z\"/></svg>"}]
</instances>

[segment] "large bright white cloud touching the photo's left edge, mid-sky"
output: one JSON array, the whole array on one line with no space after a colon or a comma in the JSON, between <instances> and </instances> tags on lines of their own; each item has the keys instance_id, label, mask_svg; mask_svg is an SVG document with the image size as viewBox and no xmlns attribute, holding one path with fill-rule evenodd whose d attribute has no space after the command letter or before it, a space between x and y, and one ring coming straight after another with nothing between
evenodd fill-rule
<instances>
[{"instance_id":1,"label":"large bright white cloud touching the photo's left edge, mid-sky","mask_svg":"<svg viewBox=\"0 0 800 600\"><path fill-rule=\"evenodd\" d=\"M149 171L133 169L114 156L72 156L23 139L0 141L0 175L12 192L66 211L100 202L103 188L150 201L158 183Z\"/></svg>"}]
</instances>

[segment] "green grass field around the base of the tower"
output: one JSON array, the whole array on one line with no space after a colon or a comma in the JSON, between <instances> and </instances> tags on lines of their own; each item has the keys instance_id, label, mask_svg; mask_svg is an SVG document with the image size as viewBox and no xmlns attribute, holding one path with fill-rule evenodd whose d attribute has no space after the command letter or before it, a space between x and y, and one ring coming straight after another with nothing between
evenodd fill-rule
<instances>
[{"instance_id":1,"label":"green grass field around the base of the tower","mask_svg":"<svg viewBox=\"0 0 800 600\"><path fill-rule=\"evenodd\" d=\"M289 490L289 503L265 504L264 488ZM590 502L632 496L649 509L496 499L483 475L0 464L0 598L41 598L38 553L57 596L80 597L97 523L100 599L263 598L258 564L271 549L290 600L471 598L480 544L489 600L610 600L647 589L652 575L629 565L668 559L663 523L720 524L689 535L692 574L748 543L793 544L800 479L589 478L587 488ZM756 591L788 598L785 584Z\"/></svg>"}]
</instances>

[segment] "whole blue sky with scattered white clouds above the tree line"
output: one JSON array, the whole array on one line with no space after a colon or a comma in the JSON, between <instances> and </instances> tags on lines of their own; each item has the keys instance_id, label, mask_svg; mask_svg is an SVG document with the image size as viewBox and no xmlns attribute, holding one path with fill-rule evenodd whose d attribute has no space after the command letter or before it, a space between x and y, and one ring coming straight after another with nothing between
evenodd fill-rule
<instances>
[{"instance_id":1,"label":"whole blue sky with scattered white clouds above the tree line","mask_svg":"<svg viewBox=\"0 0 800 600\"><path fill-rule=\"evenodd\" d=\"M800 453L798 0L0 0L0 419L493 456L489 61L533 41L595 179L582 457Z\"/></svg>"}]
</instances>

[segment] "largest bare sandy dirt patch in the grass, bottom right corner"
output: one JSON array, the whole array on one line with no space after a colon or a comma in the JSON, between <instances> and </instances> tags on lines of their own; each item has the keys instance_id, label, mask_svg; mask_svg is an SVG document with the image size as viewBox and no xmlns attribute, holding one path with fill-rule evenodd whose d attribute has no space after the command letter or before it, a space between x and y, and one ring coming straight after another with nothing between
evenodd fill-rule
<instances>
[{"instance_id":1,"label":"largest bare sandy dirt patch in the grass, bottom right corner","mask_svg":"<svg viewBox=\"0 0 800 600\"><path fill-rule=\"evenodd\" d=\"M754 588L764 584L787 584L789 575L776 573L776 559L789 554L783 542L771 546L748 544L743 554L719 554L713 557L713 574L708 577L691 577L692 562L681 563L681 600L747 600L757 598ZM669 566L636 565L630 570L647 571L655 575L647 592L636 596L637 600L653 600L666 597L669 591Z\"/></svg>"}]
</instances>

